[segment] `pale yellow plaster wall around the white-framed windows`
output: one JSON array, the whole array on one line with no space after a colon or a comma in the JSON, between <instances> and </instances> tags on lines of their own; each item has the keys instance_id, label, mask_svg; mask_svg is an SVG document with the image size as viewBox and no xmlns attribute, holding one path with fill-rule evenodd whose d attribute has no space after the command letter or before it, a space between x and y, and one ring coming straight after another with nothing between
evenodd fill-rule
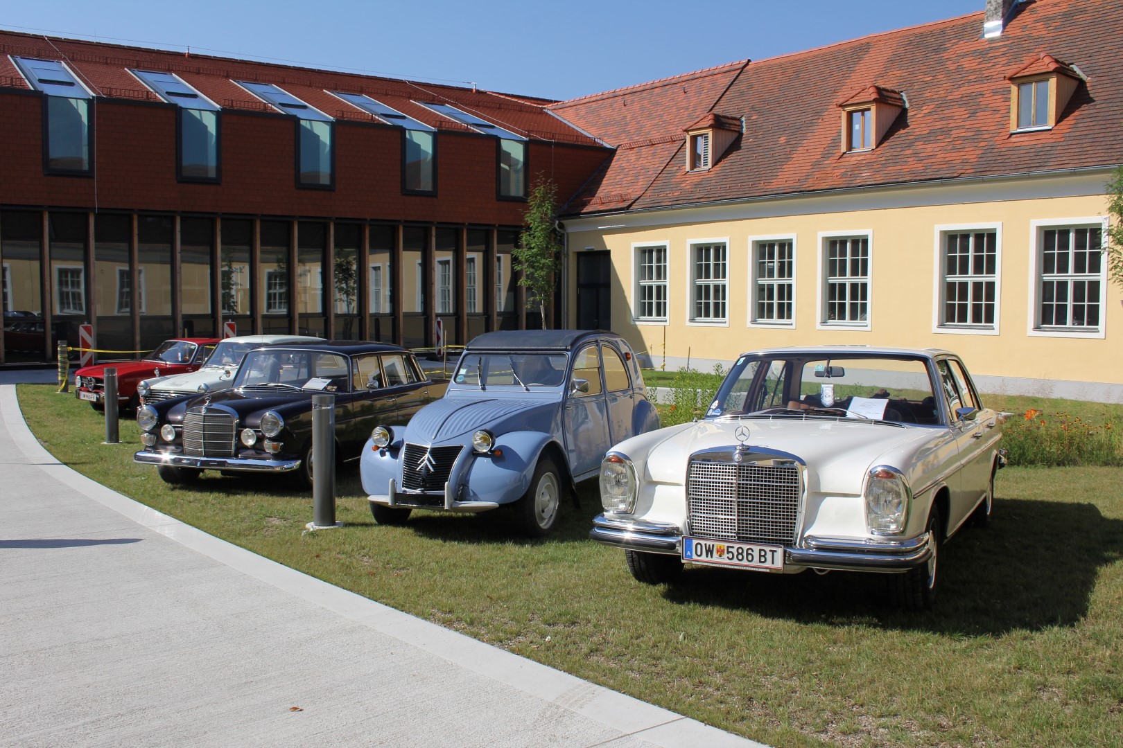
<instances>
[{"instance_id":1,"label":"pale yellow plaster wall around the white-framed windows","mask_svg":"<svg viewBox=\"0 0 1123 748\"><path fill-rule=\"evenodd\" d=\"M1108 284L1106 338L1038 338L1029 334L1031 304L1031 221L1106 215L1101 196L819 213L574 232L572 248L612 252L612 329L659 367L663 355L732 360L738 353L772 345L869 344L943 348L964 357L976 376L1123 384L1119 286ZM608 221L605 221L608 222ZM937 303L937 225L999 223L998 335L933 332ZM870 330L816 329L820 287L819 232L871 231ZM796 240L795 327L748 325L749 238L793 234ZM728 325L688 324L688 242L729 240ZM668 321L634 323L632 246L668 243ZM576 275L570 252L570 279ZM576 293L570 280L570 323Z\"/></svg>"}]
</instances>

